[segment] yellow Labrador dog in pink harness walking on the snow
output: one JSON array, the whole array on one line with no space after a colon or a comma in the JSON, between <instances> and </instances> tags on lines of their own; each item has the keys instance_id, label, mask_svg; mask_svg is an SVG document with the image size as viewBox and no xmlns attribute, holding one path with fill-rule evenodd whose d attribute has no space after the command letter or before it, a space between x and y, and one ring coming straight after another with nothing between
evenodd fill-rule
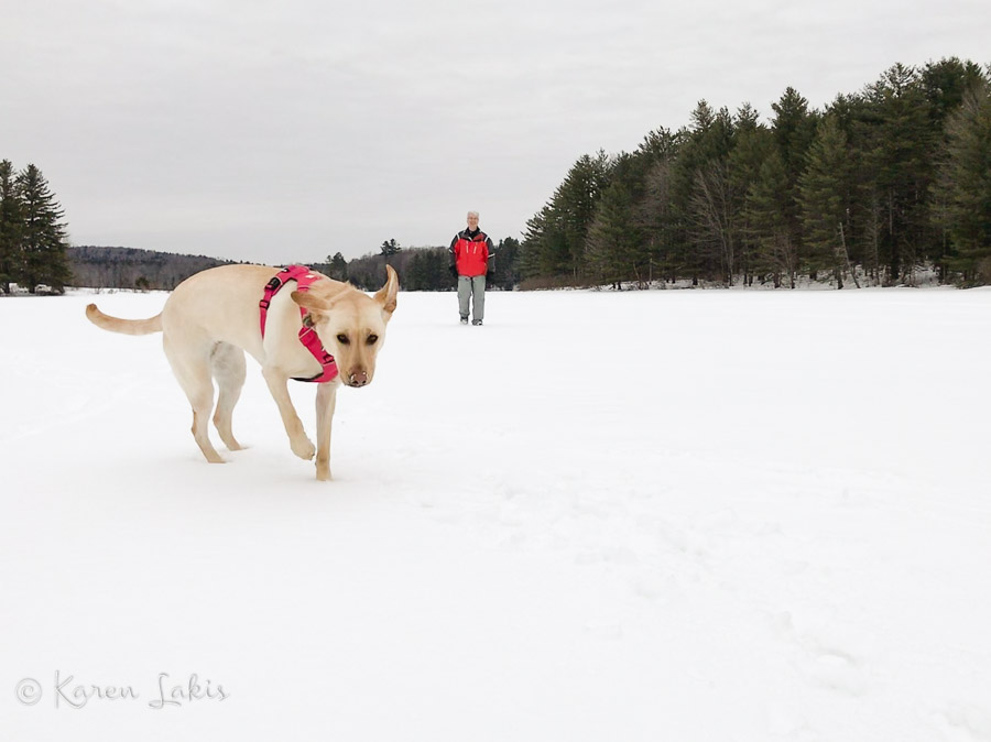
<instances>
[{"instance_id":1,"label":"yellow Labrador dog in pink harness walking on the snow","mask_svg":"<svg viewBox=\"0 0 991 742\"><path fill-rule=\"evenodd\" d=\"M231 415L244 384L244 351L251 353L261 363L293 452L306 460L316 452L317 479L326 480L330 479L330 423L337 388L341 383L371 383L375 357L385 340L385 325L395 310L399 277L391 266L385 270L385 285L374 296L315 271L301 275L295 284L296 279L290 279L284 291L271 296L263 320L259 304L263 297L269 298L266 285L276 274L284 275L265 265L224 265L197 273L176 286L162 313L150 319L118 319L105 315L95 304L86 307L86 316L113 332L163 334L165 356L193 405L193 437L211 463L224 462L207 432L214 407L211 379L217 380L219 389L214 425L224 444L238 450L241 446L231 433ZM316 338L312 339L316 347L323 345L334 357L329 365L322 364L316 351L302 341L306 328L315 330ZM324 356L325 361L328 358ZM329 378L328 368L333 380L317 384L314 449L293 407L287 381Z\"/></svg>"}]
</instances>

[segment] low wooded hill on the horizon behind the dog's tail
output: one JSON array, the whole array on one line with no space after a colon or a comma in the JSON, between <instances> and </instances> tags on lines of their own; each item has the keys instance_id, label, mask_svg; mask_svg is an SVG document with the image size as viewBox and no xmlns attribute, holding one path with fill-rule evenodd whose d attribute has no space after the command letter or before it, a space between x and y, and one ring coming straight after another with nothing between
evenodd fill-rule
<instances>
[{"instance_id":1,"label":"low wooded hill on the horizon behind the dog's tail","mask_svg":"<svg viewBox=\"0 0 991 742\"><path fill-rule=\"evenodd\" d=\"M165 291L172 291L194 273L233 262L206 255L95 245L69 248L68 259L75 286Z\"/></svg>"}]
</instances>

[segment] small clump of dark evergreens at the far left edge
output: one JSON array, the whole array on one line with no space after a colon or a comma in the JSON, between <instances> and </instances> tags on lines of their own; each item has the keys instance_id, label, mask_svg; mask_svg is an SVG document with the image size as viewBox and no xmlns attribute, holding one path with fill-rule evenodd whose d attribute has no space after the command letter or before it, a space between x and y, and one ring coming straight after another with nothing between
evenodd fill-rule
<instances>
[{"instance_id":1,"label":"small clump of dark evergreens at the far left edge","mask_svg":"<svg viewBox=\"0 0 991 742\"><path fill-rule=\"evenodd\" d=\"M18 172L0 161L0 291L11 284L34 293L40 284L64 292L72 280L65 212L34 165Z\"/></svg>"}]
</instances>

